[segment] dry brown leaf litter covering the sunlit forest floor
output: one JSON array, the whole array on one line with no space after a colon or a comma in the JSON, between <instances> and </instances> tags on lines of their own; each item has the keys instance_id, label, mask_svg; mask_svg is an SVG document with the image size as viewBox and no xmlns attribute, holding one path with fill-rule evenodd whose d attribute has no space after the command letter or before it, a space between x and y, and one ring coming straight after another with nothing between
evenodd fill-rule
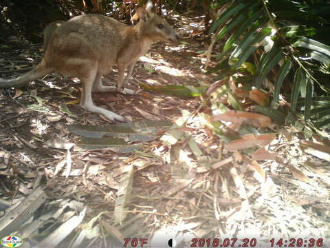
<instances>
[{"instance_id":1,"label":"dry brown leaf litter covering the sunlit forest floor","mask_svg":"<svg viewBox=\"0 0 330 248\"><path fill-rule=\"evenodd\" d=\"M1 237L22 234L32 247L109 247L127 237L159 245L168 234L329 238L329 142L279 129L281 113L263 106L263 92L217 81L204 94L213 81L199 54L208 48L198 36L186 41L175 51L154 45L153 59L135 68L131 87L154 93L93 95L129 123L81 110L76 80L50 75L43 82L56 87L1 90ZM37 48L25 48L36 61Z\"/></svg>"}]
</instances>

